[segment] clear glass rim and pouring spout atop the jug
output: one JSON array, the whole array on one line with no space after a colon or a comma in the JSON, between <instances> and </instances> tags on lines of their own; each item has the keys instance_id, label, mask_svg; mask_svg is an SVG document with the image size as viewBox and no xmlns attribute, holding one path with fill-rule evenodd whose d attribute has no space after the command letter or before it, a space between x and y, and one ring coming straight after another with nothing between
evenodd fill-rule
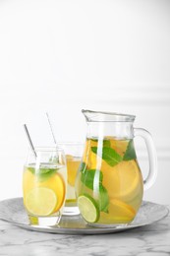
<instances>
[{"instance_id":1,"label":"clear glass rim and pouring spout atop the jug","mask_svg":"<svg viewBox=\"0 0 170 256\"><path fill-rule=\"evenodd\" d=\"M116 112L82 110L86 122L134 122L136 116Z\"/></svg>"}]
</instances>

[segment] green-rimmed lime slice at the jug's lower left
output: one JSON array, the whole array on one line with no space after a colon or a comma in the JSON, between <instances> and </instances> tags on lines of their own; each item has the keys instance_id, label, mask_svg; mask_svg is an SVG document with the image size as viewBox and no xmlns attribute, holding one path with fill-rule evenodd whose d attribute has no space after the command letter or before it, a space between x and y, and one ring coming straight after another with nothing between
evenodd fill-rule
<instances>
[{"instance_id":1,"label":"green-rimmed lime slice at the jug's lower left","mask_svg":"<svg viewBox=\"0 0 170 256\"><path fill-rule=\"evenodd\" d=\"M99 219L99 208L93 198L81 195L78 198L78 207L87 223L96 223Z\"/></svg>"}]
</instances>

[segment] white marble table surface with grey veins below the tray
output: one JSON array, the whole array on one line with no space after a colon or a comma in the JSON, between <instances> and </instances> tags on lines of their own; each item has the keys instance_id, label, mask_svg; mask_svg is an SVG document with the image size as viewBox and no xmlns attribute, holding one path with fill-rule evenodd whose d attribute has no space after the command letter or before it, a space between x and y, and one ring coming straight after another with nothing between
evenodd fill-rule
<instances>
[{"instance_id":1,"label":"white marble table surface with grey veins below the tray","mask_svg":"<svg viewBox=\"0 0 170 256\"><path fill-rule=\"evenodd\" d=\"M170 215L126 232L97 235L42 233L0 221L0 255L168 256Z\"/></svg>"}]
</instances>

